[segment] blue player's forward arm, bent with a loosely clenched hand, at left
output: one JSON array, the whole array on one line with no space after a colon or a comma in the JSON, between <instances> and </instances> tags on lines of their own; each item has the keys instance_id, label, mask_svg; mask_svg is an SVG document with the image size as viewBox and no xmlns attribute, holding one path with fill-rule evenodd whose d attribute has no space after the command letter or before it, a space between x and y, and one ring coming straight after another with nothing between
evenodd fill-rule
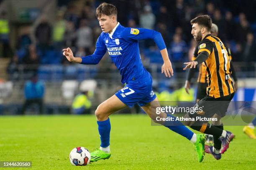
<instances>
[{"instance_id":1,"label":"blue player's forward arm, bent with a loosely clenched hand, at left","mask_svg":"<svg viewBox=\"0 0 256 170\"><path fill-rule=\"evenodd\" d=\"M102 42L102 37L100 36L96 42L96 49L92 55L87 55L85 57L74 57L72 50L68 47L63 49L63 55L66 56L69 62L79 63L79 64L98 64L102 59L103 55L106 53L106 46Z\"/></svg>"}]
</instances>

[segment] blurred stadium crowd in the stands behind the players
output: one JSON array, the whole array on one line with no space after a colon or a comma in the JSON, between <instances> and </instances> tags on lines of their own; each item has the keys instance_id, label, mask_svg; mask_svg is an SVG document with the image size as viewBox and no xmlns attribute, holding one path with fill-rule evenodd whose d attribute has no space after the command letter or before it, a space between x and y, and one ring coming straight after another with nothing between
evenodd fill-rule
<instances>
[{"instance_id":1,"label":"blurred stadium crowd in the stands behind the players","mask_svg":"<svg viewBox=\"0 0 256 170\"><path fill-rule=\"evenodd\" d=\"M241 0L235 0L242 2ZM95 42L101 30L95 17L95 7L102 0L77 1L59 0L54 25L48 22L46 14L40 15L40 22L33 31L36 42L31 38L31 27L19 30L17 45L8 66L10 79L18 79L17 66L24 72L37 72L38 66L45 64L68 64L62 56L63 47L71 47L75 56L90 55L95 50ZM118 20L125 27L148 28L161 32L172 62L191 60L196 45L191 36L190 20L197 15L208 14L219 27L219 37L230 47L233 61L251 63L256 61L256 20L247 1L236 6L236 2L221 0L106 0L117 6ZM255 3L255 2L254 2ZM255 4L254 4L255 5ZM239 10L237 10L239 8ZM236 11L244 11L237 13ZM2 20L4 17L1 15ZM8 42L6 32L1 31L1 43ZM153 41L140 42L141 55L146 65L162 63L161 55ZM6 48L1 57L7 55ZM146 62L148 61L148 62ZM110 61L109 61L110 62ZM33 65L33 66L32 66ZM33 74L31 73L31 74Z\"/></svg>"}]
</instances>

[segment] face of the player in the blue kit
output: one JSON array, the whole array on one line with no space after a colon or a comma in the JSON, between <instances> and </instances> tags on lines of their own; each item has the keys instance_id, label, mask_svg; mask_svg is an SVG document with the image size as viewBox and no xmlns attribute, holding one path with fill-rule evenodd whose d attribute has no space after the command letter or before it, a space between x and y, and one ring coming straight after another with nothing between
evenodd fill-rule
<instances>
[{"instance_id":1,"label":"face of the player in the blue kit","mask_svg":"<svg viewBox=\"0 0 256 170\"><path fill-rule=\"evenodd\" d=\"M100 15L98 18L101 30L105 32L111 32L113 30L113 23L115 22L113 16Z\"/></svg>"}]
</instances>

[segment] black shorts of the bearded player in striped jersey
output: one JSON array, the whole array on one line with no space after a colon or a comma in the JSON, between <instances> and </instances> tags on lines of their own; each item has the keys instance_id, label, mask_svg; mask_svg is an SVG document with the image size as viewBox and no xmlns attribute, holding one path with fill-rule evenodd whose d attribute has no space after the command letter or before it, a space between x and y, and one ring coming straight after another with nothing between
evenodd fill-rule
<instances>
[{"instance_id":1,"label":"black shorts of the bearded player in striped jersey","mask_svg":"<svg viewBox=\"0 0 256 170\"><path fill-rule=\"evenodd\" d=\"M214 98L207 96L203 99L201 99L194 108L197 107L198 112L195 112L192 114L189 113L190 117L212 117L215 115L219 115L220 117L224 117L226 115L226 112L228 110L228 105L230 101L233 99L235 93L232 93L230 95Z\"/></svg>"}]
</instances>

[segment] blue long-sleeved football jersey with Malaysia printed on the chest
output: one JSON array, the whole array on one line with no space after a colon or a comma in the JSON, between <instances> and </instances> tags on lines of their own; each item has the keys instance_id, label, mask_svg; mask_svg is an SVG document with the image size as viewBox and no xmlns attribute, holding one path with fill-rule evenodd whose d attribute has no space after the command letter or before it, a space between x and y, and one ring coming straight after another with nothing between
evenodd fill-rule
<instances>
[{"instance_id":1,"label":"blue long-sleeved football jersey with Malaysia printed on the chest","mask_svg":"<svg viewBox=\"0 0 256 170\"><path fill-rule=\"evenodd\" d=\"M118 23L110 34L100 34L95 52L82 57L82 64L97 64L108 51L111 60L120 71L122 83L151 79L150 73L141 62L138 45L138 40L147 39L154 40L160 50L166 48L159 32L145 28L125 28Z\"/></svg>"}]
</instances>

